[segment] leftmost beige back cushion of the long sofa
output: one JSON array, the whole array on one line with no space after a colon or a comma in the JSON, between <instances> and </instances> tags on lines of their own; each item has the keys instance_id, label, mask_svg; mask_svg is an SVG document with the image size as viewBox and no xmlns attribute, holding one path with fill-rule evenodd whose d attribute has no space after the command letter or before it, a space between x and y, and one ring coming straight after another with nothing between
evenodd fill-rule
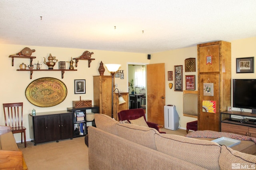
<instances>
[{"instance_id":1,"label":"leftmost beige back cushion of the long sofa","mask_svg":"<svg viewBox=\"0 0 256 170\"><path fill-rule=\"evenodd\" d=\"M119 123L118 121L114 120L108 115L104 115L100 113L96 113L94 115L94 119L95 119L95 125L97 128L103 131L106 131L108 133L118 135L118 132L116 130L116 124Z\"/></svg>"}]
</instances>

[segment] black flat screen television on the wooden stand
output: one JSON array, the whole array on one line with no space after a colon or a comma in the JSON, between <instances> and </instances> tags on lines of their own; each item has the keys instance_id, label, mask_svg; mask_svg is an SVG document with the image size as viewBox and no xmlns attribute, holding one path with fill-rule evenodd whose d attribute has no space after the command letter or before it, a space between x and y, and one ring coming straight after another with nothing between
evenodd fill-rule
<instances>
[{"instance_id":1,"label":"black flat screen television on the wooden stand","mask_svg":"<svg viewBox=\"0 0 256 170\"><path fill-rule=\"evenodd\" d=\"M233 79L233 107L256 113L256 79Z\"/></svg>"}]
</instances>

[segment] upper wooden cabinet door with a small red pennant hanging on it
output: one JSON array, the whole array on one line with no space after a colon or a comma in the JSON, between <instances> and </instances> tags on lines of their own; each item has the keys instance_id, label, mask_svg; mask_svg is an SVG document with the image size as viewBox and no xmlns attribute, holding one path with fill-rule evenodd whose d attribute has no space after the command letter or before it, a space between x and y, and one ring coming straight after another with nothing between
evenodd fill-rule
<instances>
[{"instance_id":1,"label":"upper wooden cabinet door with a small red pennant hanging on it","mask_svg":"<svg viewBox=\"0 0 256 170\"><path fill-rule=\"evenodd\" d=\"M199 47L199 72L220 72L220 45Z\"/></svg>"}]
</instances>

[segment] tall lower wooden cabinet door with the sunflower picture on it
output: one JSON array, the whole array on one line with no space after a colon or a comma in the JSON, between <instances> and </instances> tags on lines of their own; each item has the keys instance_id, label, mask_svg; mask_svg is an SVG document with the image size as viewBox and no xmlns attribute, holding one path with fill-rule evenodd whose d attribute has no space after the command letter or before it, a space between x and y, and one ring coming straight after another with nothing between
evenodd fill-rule
<instances>
[{"instance_id":1,"label":"tall lower wooden cabinet door with the sunflower picture on it","mask_svg":"<svg viewBox=\"0 0 256 170\"><path fill-rule=\"evenodd\" d=\"M204 96L204 83L212 82L214 84L214 96ZM198 130L212 130L212 131L220 131L220 74L200 74L199 76L199 114L198 114ZM215 113L205 112L207 108L209 109L211 106L203 106L203 101L215 101ZM203 109L203 107L205 109Z\"/></svg>"}]
</instances>

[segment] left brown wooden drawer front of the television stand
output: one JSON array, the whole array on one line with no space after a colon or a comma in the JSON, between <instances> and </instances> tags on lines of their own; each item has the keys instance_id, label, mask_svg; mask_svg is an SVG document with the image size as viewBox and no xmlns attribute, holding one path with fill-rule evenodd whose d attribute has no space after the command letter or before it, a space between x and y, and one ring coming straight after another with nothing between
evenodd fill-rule
<instances>
[{"instance_id":1,"label":"left brown wooden drawer front of the television stand","mask_svg":"<svg viewBox=\"0 0 256 170\"><path fill-rule=\"evenodd\" d=\"M248 127L242 125L234 125L230 123L221 123L221 131L228 133L235 133L239 135L248 135Z\"/></svg>"}]
</instances>

